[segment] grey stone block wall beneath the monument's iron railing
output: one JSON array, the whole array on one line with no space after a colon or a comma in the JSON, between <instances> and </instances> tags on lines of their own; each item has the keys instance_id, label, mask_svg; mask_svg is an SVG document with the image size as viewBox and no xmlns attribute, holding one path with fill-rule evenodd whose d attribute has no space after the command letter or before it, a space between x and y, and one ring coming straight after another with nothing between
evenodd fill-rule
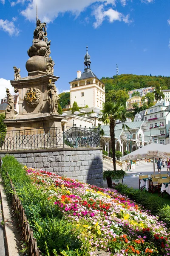
<instances>
[{"instance_id":1,"label":"grey stone block wall beneath the monument's iron railing","mask_svg":"<svg viewBox=\"0 0 170 256\"><path fill-rule=\"evenodd\" d=\"M67 148L10 151L27 167L54 172L96 186L103 185L101 148ZM0 152L5 156L5 152Z\"/></svg>"}]
</instances>

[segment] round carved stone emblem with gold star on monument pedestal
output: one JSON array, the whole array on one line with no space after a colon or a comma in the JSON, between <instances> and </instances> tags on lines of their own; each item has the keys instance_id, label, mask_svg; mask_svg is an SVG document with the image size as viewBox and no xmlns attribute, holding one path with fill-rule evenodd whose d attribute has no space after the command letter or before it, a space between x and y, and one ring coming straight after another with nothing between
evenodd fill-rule
<instances>
[{"instance_id":1,"label":"round carved stone emblem with gold star on monument pedestal","mask_svg":"<svg viewBox=\"0 0 170 256\"><path fill-rule=\"evenodd\" d=\"M41 91L40 89L37 88L30 88L27 90L26 95L25 95L25 99L26 99L26 103L29 107L37 107L37 105L40 102L40 96L41 96Z\"/></svg>"}]
</instances>

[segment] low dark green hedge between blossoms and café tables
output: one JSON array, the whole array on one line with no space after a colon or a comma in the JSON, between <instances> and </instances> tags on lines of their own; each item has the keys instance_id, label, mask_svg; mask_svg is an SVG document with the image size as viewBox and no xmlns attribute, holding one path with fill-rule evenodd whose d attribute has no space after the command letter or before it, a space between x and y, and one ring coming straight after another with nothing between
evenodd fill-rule
<instances>
[{"instance_id":1,"label":"low dark green hedge between blossoms and caf\u00e9 tables","mask_svg":"<svg viewBox=\"0 0 170 256\"><path fill-rule=\"evenodd\" d=\"M144 206L145 209L150 210L153 215L158 215L159 210L162 209L164 206L162 198L155 197L150 193L136 190L133 188L128 188L127 185L122 184L116 186L116 189L122 195L127 195L128 198L135 200L138 204Z\"/></svg>"}]
</instances>

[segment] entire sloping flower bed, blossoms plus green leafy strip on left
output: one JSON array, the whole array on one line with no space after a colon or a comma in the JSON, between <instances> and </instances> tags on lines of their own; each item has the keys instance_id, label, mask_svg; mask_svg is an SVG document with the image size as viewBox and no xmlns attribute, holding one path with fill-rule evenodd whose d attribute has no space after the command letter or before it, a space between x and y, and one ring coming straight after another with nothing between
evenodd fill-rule
<instances>
[{"instance_id":1,"label":"entire sloping flower bed, blossoms plus green leafy strip on left","mask_svg":"<svg viewBox=\"0 0 170 256\"><path fill-rule=\"evenodd\" d=\"M14 157L6 156L1 175L9 195L6 172L43 256L170 255L165 224L116 190L24 170Z\"/></svg>"}]
</instances>

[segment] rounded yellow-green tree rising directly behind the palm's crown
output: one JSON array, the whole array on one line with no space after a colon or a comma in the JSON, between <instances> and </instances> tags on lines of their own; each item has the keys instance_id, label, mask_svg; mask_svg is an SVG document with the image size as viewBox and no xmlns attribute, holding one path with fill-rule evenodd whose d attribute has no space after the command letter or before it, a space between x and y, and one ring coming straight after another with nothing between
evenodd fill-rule
<instances>
[{"instance_id":1,"label":"rounded yellow-green tree rising directly behind the palm's crown","mask_svg":"<svg viewBox=\"0 0 170 256\"><path fill-rule=\"evenodd\" d=\"M106 102L117 102L121 103L126 107L126 101L129 99L129 95L125 90L110 90L106 94L105 101Z\"/></svg>"}]
</instances>

